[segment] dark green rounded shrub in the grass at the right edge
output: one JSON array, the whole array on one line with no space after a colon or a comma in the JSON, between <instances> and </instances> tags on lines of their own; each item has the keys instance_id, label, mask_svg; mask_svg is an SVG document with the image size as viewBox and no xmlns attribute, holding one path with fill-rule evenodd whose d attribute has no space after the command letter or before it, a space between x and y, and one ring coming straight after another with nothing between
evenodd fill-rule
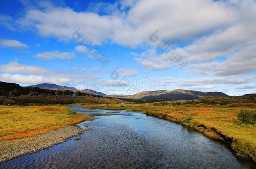
<instances>
[{"instance_id":1,"label":"dark green rounded shrub in the grass at the right edge","mask_svg":"<svg viewBox=\"0 0 256 169\"><path fill-rule=\"evenodd\" d=\"M241 110L237 118L244 124L256 124L256 110Z\"/></svg>"}]
</instances>

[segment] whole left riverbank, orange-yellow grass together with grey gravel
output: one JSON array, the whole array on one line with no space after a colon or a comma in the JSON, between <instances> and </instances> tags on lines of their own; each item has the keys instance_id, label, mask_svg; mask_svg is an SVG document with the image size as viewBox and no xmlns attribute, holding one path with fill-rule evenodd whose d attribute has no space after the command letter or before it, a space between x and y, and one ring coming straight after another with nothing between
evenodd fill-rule
<instances>
[{"instance_id":1,"label":"whole left riverbank, orange-yellow grass together with grey gravel","mask_svg":"<svg viewBox=\"0 0 256 169\"><path fill-rule=\"evenodd\" d=\"M65 106L0 106L0 163L63 143L92 119Z\"/></svg>"}]
</instances>

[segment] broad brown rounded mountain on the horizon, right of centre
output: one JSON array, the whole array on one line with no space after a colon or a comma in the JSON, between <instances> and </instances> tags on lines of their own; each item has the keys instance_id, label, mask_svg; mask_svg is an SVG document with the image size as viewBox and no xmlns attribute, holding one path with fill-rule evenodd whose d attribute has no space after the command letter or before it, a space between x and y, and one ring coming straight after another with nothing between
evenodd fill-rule
<instances>
[{"instance_id":1,"label":"broad brown rounded mountain on the horizon, right of centre","mask_svg":"<svg viewBox=\"0 0 256 169\"><path fill-rule=\"evenodd\" d=\"M193 100L206 96L224 96L228 95L222 92L201 92L201 91L188 91L188 90L174 90L174 91L142 91L134 95L109 95L114 98L131 98L141 100L161 100L161 101L174 101L174 100Z\"/></svg>"}]
</instances>

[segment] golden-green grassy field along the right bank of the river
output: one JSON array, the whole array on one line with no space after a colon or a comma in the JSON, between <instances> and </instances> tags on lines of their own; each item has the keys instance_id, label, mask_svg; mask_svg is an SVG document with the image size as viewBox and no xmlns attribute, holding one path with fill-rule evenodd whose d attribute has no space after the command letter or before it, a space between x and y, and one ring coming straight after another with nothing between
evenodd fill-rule
<instances>
[{"instance_id":1,"label":"golden-green grassy field along the right bank of the river","mask_svg":"<svg viewBox=\"0 0 256 169\"><path fill-rule=\"evenodd\" d=\"M84 104L86 108L122 109L141 111L145 114L176 121L202 132L211 139L228 141L237 156L252 159L256 163L256 125L243 124L237 114L242 109L256 110L256 104L230 104L225 106L206 104L181 104L154 106L145 104Z\"/></svg>"}]
</instances>

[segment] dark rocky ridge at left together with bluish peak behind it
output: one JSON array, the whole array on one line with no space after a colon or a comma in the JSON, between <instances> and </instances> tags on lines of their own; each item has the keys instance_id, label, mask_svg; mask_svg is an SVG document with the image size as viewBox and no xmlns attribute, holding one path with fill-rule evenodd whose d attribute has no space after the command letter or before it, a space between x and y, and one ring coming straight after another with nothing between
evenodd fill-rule
<instances>
[{"instance_id":1,"label":"dark rocky ridge at left together with bluish peak behind it","mask_svg":"<svg viewBox=\"0 0 256 169\"><path fill-rule=\"evenodd\" d=\"M41 87L58 88L52 90L33 86L22 87L16 83L0 81L0 104L4 105L29 105L29 104L73 104L73 103L123 103L123 99L108 96L99 96L80 91L59 90L67 86L54 84L39 85Z\"/></svg>"}]
</instances>

